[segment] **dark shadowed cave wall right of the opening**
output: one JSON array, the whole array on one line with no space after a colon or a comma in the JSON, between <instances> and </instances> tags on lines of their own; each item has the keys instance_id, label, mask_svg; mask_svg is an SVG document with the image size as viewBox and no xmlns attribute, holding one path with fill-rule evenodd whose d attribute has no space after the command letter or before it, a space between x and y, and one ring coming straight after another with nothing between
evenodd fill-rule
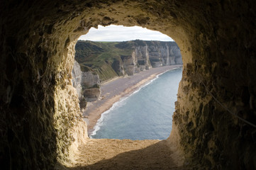
<instances>
[{"instance_id":1,"label":"dark shadowed cave wall right of the opening","mask_svg":"<svg viewBox=\"0 0 256 170\"><path fill-rule=\"evenodd\" d=\"M201 159L198 169L255 169L256 129L236 117L256 123L255 4L207 1L201 6L189 16L196 21L187 49L192 61L184 64L173 116L179 144L187 162Z\"/></svg>"}]
</instances>

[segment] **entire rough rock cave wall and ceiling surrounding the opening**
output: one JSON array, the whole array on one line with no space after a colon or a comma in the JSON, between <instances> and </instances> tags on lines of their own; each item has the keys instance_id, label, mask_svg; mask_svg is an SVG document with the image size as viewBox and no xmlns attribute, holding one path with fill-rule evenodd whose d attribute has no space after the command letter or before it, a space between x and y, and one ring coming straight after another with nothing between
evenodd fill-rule
<instances>
[{"instance_id":1,"label":"entire rough rock cave wall and ceiling surrounding the opening","mask_svg":"<svg viewBox=\"0 0 256 170\"><path fill-rule=\"evenodd\" d=\"M71 83L74 44L113 23L159 30L179 45L184 71L168 141L185 164L255 169L256 130L226 109L256 124L255 9L250 0L1 2L1 164L74 162L87 140Z\"/></svg>"}]
</instances>

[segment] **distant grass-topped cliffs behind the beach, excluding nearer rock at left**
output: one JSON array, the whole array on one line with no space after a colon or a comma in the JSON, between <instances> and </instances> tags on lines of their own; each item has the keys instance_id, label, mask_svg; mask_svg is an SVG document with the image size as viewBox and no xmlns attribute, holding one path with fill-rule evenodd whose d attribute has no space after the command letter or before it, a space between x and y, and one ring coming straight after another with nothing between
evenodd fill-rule
<instances>
[{"instance_id":1,"label":"distant grass-topped cliffs behind the beach, excluding nearer rock at left","mask_svg":"<svg viewBox=\"0 0 256 170\"><path fill-rule=\"evenodd\" d=\"M79 40L75 50L75 60L82 67L93 69L101 81L123 75L130 76L150 67L182 64L182 55L176 42Z\"/></svg>"}]
</instances>

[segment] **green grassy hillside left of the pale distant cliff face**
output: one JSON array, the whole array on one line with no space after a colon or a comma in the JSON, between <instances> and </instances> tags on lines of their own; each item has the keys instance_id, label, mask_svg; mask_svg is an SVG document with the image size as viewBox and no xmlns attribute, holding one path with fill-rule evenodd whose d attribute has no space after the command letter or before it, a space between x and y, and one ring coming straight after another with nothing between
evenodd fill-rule
<instances>
[{"instance_id":1,"label":"green grassy hillside left of the pale distant cliff face","mask_svg":"<svg viewBox=\"0 0 256 170\"><path fill-rule=\"evenodd\" d=\"M111 65L116 60L121 61L121 55L131 55L133 47L116 47L120 42L92 42L79 40L75 47L75 60L84 71L93 69L99 74L101 81L118 76Z\"/></svg>"}]
</instances>

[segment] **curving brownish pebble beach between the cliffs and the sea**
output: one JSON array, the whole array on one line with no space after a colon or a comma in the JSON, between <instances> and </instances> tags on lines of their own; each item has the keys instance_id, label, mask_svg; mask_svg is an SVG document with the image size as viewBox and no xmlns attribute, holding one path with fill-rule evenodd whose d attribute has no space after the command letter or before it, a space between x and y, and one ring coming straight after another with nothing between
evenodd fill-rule
<instances>
[{"instance_id":1,"label":"curving brownish pebble beach between the cliffs and the sea","mask_svg":"<svg viewBox=\"0 0 256 170\"><path fill-rule=\"evenodd\" d=\"M133 94L141 86L155 79L157 75L180 67L182 65L151 68L133 76L119 77L101 84L101 98L98 101L88 103L87 109L83 113L85 121L87 121L88 134L91 135L94 131L94 126L101 118L101 114L108 111L114 103L120 101L125 96Z\"/></svg>"}]
</instances>

